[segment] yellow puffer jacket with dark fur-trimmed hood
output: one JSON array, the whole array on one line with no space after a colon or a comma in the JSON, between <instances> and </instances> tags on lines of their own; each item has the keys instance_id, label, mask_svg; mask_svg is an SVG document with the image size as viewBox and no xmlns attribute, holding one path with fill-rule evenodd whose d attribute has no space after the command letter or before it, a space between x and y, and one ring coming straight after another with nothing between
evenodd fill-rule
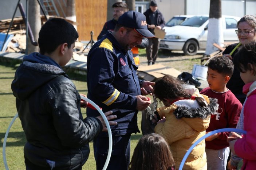
<instances>
[{"instance_id":1,"label":"yellow puffer jacket with dark fur-trimmed hood","mask_svg":"<svg viewBox=\"0 0 256 170\"><path fill-rule=\"evenodd\" d=\"M170 107L158 108L160 117L166 117L164 123L155 126L155 133L165 137L173 154L175 168L190 148L203 135L210 123L210 114L218 109L217 100L208 98L195 91L193 96L204 97L208 106L201 108L196 100L179 100ZM184 170L206 170L205 141L198 143L186 159Z\"/></svg>"}]
</instances>

